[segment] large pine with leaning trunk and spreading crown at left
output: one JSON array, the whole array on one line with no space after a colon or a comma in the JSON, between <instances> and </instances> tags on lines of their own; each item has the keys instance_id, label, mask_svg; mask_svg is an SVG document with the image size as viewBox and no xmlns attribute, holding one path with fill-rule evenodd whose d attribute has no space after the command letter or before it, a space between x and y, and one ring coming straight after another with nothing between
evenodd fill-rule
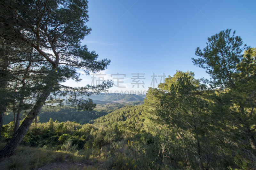
<instances>
[{"instance_id":1,"label":"large pine with leaning trunk and spreading crown at left","mask_svg":"<svg viewBox=\"0 0 256 170\"><path fill-rule=\"evenodd\" d=\"M87 8L86 0L1 2L1 30L4 30L8 37L23 41L33 49L38 60L33 60L36 66L28 73L38 73L38 81L33 84L37 91L37 95L33 96L33 105L0 153L0 158L14 153L45 102L61 103L68 94L67 103L81 110L92 110L95 107L92 100L80 100L77 97L89 96L93 92L104 91L112 86L111 81L98 86L77 88L62 85L68 79L81 81L77 69L89 74L104 70L110 63L107 59L97 60L98 55L94 51L89 52L86 46L81 46L81 40L91 31L91 28L85 25L88 21ZM26 58L20 61L25 62L29 61Z\"/></svg>"}]
</instances>

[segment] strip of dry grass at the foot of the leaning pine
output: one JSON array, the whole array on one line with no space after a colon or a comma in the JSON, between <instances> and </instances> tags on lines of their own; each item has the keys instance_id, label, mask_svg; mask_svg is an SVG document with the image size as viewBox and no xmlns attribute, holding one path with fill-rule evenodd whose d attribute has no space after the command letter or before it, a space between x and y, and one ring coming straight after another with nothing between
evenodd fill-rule
<instances>
[{"instance_id":1,"label":"strip of dry grass at the foot of the leaning pine","mask_svg":"<svg viewBox=\"0 0 256 170\"><path fill-rule=\"evenodd\" d=\"M0 143L0 151L4 148L6 143ZM52 148L28 147L18 146L15 154L10 158L2 159L0 162L1 170L34 170L51 163L65 162L65 159L71 160L77 163L82 163L85 160L93 161L96 158L97 162L104 162L108 159L108 149L104 147L99 150L87 149L68 151L54 151ZM57 168L58 169L58 168ZM70 170L81 170L81 167L74 167ZM83 170L96 170L100 167L83 167Z\"/></svg>"}]
</instances>

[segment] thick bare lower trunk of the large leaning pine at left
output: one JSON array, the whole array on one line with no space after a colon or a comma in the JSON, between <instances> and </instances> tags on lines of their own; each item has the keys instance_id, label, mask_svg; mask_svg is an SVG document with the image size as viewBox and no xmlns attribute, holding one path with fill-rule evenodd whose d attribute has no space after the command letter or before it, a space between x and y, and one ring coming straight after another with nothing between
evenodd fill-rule
<instances>
[{"instance_id":1,"label":"thick bare lower trunk of the large leaning pine at left","mask_svg":"<svg viewBox=\"0 0 256 170\"><path fill-rule=\"evenodd\" d=\"M19 129L16 131L16 133L12 136L11 140L4 146L3 150L0 152L0 159L7 156L12 156L14 154L21 140L28 132L28 129L32 124L33 120L35 119L35 117L41 110L42 106L44 105L44 102L50 95L50 92L51 88L47 89L45 93L40 95L40 97L37 99L33 109L28 113L27 117L24 119Z\"/></svg>"}]
</instances>

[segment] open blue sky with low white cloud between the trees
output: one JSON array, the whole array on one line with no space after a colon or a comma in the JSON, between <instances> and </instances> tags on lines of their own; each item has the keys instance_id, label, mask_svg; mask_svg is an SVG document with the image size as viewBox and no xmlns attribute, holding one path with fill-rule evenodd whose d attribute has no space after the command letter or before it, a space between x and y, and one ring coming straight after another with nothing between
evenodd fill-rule
<instances>
[{"instance_id":1,"label":"open blue sky with low white cloud between the trees","mask_svg":"<svg viewBox=\"0 0 256 170\"><path fill-rule=\"evenodd\" d=\"M204 69L193 65L191 58L196 58L197 47L206 46L207 37L227 28L236 30L244 43L256 47L255 0L89 0L88 6L87 25L92 31L82 44L96 51L99 59L111 60L108 69L101 72L106 74L104 79L124 77L111 74L126 75L119 79L124 81L119 86L125 88L114 86L109 89L112 93L146 92L153 87L153 73L172 76L176 70L193 71L196 78L209 78ZM131 74L135 73L145 74L145 79L139 81L144 81L144 88L132 88L135 82ZM81 78L81 82L69 80L65 84L84 86L93 80L92 75ZM159 83L161 77L156 78Z\"/></svg>"}]
</instances>

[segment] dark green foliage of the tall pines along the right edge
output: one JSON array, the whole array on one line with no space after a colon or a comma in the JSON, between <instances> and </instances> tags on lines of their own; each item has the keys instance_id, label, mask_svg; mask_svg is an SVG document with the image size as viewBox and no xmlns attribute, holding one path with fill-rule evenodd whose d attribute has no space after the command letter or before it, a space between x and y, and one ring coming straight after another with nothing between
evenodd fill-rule
<instances>
[{"instance_id":1,"label":"dark green foliage of the tall pines along the right edge","mask_svg":"<svg viewBox=\"0 0 256 170\"><path fill-rule=\"evenodd\" d=\"M252 158L256 152L255 48L246 48L241 37L235 36L235 31L233 35L230 32L227 29L208 38L203 51L199 47L196 49L199 58L192 60L196 66L206 69L212 79L204 82L216 89L215 93L207 96L211 100L209 109L215 120L215 137L228 155L234 150L243 153L239 159L233 158L238 166L253 169Z\"/></svg>"}]
</instances>

